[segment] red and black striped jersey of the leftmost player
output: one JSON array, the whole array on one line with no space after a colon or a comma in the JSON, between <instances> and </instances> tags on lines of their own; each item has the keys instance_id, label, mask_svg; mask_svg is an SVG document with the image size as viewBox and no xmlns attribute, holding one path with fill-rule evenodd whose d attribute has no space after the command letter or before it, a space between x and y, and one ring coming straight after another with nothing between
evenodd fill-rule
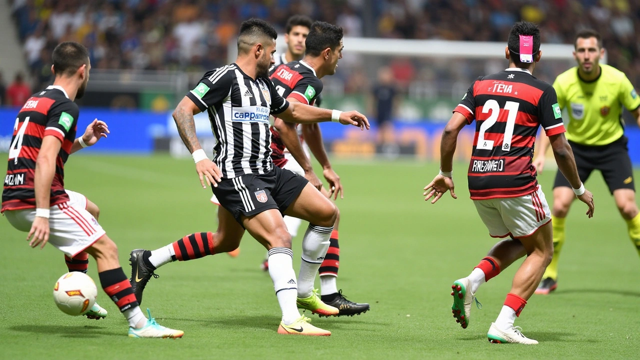
<instances>
[{"instance_id":1,"label":"red and black striped jersey of the leftmost player","mask_svg":"<svg viewBox=\"0 0 640 360\"><path fill-rule=\"evenodd\" d=\"M49 86L29 97L13 126L9 148L9 164L4 177L2 209L17 210L36 207L34 177L42 139L55 136L62 142L56 158L56 173L51 183L49 206L67 202L64 166L76 140L79 110L60 86Z\"/></svg>"}]
</instances>

